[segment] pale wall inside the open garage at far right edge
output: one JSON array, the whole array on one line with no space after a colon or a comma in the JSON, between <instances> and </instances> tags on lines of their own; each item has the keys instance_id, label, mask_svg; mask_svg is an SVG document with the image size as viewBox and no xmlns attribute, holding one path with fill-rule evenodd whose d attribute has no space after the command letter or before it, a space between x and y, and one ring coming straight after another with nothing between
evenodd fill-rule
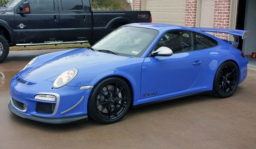
<instances>
[{"instance_id":1,"label":"pale wall inside the open garage at far right edge","mask_svg":"<svg viewBox=\"0 0 256 149\"><path fill-rule=\"evenodd\" d=\"M247 0L244 30L250 30L250 37L243 41L243 52L245 55L251 55L252 52L256 52L256 1ZM239 21L239 20L238 20Z\"/></svg>"}]
</instances>

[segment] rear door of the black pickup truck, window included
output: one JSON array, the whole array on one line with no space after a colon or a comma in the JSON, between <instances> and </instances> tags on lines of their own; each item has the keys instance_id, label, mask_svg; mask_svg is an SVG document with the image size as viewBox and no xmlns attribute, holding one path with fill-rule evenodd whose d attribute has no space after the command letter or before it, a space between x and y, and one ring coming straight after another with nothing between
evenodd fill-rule
<instances>
[{"instance_id":1,"label":"rear door of the black pickup truck, window included","mask_svg":"<svg viewBox=\"0 0 256 149\"><path fill-rule=\"evenodd\" d=\"M89 40L92 34L90 4L85 0L59 0L60 36L68 40Z\"/></svg>"}]
</instances>

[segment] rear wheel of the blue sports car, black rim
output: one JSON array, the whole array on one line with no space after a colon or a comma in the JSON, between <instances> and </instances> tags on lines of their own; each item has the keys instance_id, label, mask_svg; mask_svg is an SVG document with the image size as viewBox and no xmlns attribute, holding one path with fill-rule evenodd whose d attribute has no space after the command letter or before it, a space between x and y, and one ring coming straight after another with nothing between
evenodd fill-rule
<instances>
[{"instance_id":1,"label":"rear wheel of the blue sports car, black rim","mask_svg":"<svg viewBox=\"0 0 256 149\"><path fill-rule=\"evenodd\" d=\"M220 98L230 97L236 90L239 81L237 65L232 61L220 65L214 77L213 95Z\"/></svg>"}]
</instances>

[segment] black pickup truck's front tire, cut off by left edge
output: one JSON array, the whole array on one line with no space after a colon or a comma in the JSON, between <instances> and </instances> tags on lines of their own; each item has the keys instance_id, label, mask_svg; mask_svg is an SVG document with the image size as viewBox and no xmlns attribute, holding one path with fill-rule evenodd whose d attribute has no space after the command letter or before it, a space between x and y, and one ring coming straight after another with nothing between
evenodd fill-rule
<instances>
[{"instance_id":1,"label":"black pickup truck's front tire, cut off by left edge","mask_svg":"<svg viewBox=\"0 0 256 149\"><path fill-rule=\"evenodd\" d=\"M9 44L4 36L0 35L0 63L2 63L9 54Z\"/></svg>"}]
</instances>

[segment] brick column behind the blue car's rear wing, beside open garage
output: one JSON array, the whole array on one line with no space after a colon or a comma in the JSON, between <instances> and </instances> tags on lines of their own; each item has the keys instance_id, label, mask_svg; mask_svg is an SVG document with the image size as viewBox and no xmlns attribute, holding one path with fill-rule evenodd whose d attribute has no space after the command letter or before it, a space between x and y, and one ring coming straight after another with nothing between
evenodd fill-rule
<instances>
[{"instance_id":1,"label":"brick column behind the blue car's rear wing, beside open garage","mask_svg":"<svg viewBox=\"0 0 256 149\"><path fill-rule=\"evenodd\" d=\"M230 0L215 0L214 6L214 28L229 28ZM227 34L214 33L216 37L228 39Z\"/></svg>"}]
</instances>

